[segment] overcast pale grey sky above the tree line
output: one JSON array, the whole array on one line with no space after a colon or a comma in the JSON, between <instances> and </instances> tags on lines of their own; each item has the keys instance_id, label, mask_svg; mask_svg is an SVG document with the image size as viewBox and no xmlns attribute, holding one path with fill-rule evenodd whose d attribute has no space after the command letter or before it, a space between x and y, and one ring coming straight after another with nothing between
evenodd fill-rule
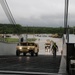
<instances>
[{"instance_id":1,"label":"overcast pale grey sky above the tree line","mask_svg":"<svg viewBox=\"0 0 75 75\"><path fill-rule=\"evenodd\" d=\"M17 24L23 26L64 26L65 0L7 0ZM69 0L68 25L75 26L75 0ZM0 5L0 23L10 23Z\"/></svg>"}]
</instances>

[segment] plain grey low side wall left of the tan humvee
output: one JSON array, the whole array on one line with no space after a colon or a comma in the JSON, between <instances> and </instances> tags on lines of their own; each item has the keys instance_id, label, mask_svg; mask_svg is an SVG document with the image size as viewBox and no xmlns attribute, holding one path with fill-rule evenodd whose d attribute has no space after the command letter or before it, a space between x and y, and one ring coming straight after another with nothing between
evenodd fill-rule
<instances>
[{"instance_id":1,"label":"plain grey low side wall left of the tan humvee","mask_svg":"<svg viewBox=\"0 0 75 75\"><path fill-rule=\"evenodd\" d=\"M0 43L0 55L15 55L17 44Z\"/></svg>"}]
</instances>

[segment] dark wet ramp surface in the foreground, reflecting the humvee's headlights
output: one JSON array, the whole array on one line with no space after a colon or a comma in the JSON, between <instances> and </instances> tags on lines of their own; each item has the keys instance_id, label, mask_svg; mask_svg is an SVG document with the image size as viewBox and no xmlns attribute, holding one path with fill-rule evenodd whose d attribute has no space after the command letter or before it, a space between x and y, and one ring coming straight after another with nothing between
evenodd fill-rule
<instances>
[{"instance_id":1,"label":"dark wet ramp surface in the foreground, reflecting the humvee's headlights","mask_svg":"<svg viewBox=\"0 0 75 75\"><path fill-rule=\"evenodd\" d=\"M58 73L61 56L0 56L0 71Z\"/></svg>"}]
</instances>

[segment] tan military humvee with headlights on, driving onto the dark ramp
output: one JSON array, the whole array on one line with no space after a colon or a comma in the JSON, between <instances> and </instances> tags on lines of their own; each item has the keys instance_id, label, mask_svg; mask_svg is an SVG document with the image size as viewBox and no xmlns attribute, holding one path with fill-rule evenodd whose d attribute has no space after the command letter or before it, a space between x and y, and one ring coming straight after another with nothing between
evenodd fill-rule
<instances>
[{"instance_id":1,"label":"tan military humvee with headlights on, driving onto the dark ramp","mask_svg":"<svg viewBox=\"0 0 75 75\"><path fill-rule=\"evenodd\" d=\"M38 52L39 52L39 46L37 43L33 43L33 42L21 42L18 43L16 47L17 56L19 56L20 53L23 53L24 56L27 53L30 53L31 56L34 56L34 54L38 56Z\"/></svg>"}]
</instances>

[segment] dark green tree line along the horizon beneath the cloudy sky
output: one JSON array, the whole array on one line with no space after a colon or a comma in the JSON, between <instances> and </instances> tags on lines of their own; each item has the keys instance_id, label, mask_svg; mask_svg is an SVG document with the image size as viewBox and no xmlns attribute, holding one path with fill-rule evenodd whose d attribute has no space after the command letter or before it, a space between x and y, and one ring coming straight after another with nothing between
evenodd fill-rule
<instances>
[{"instance_id":1,"label":"dark green tree line along the horizon beneath the cloudy sky","mask_svg":"<svg viewBox=\"0 0 75 75\"><path fill-rule=\"evenodd\" d=\"M75 27L69 27L69 33L74 33ZM19 24L0 24L0 34L63 34L63 27L31 27L31 26L22 26Z\"/></svg>"}]
</instances>

